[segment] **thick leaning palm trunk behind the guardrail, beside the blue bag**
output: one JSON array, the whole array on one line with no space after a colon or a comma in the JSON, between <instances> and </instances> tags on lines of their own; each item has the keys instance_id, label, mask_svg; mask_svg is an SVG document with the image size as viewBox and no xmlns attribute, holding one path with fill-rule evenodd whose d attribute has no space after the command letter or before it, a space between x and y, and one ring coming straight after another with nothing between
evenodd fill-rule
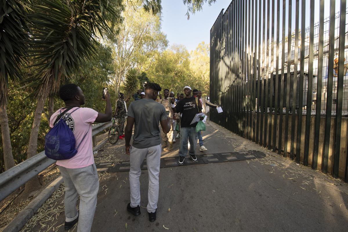
<instances>
[{"instance_id":1,"label":"thick leaning palm trunk behind the guardrail, beside the blue bag","mask_svg":"<svg viewBox=\"0 0 348 232\"><path fill-rule=\"evenodd\" d=\"M33 157L37 154L37 147L38 147L38 134L39 134L39 127L41 122L41 115L42 111L44 110L45 102L48 97L48 94L51 91L53 84L53 77L50 77L47 87L44 90L43 94L40 94L38 97L38 103L36 107L36 111L34 114L34 121L33 126L30 131L30 138L29 138L29 145L27 150L27 159ZM34 190L37 190L40 187L40 182L38 176L35 176L30 181L28 181L25 184L25 193L32 192Z\"/></svg>"}]
</instances>

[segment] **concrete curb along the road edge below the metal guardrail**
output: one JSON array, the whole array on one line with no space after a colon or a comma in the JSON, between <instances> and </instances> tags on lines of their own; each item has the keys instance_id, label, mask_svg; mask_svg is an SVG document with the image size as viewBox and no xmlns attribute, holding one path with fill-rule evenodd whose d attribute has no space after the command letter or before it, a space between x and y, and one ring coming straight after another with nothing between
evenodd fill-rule
<instances>
[{"instance_id":1,"label":"concrete curb along the road edge below the metal guardrail","mask_svg":"<svg viewBox=\"0 0 348 232\"><path fill-rule=\"evenodd\" d=\"M93 147L93 151L101 149L101 147L108 141L105 138L97 146ZM3 231L6 232L18 232L23 226L32 218L32 216L44 205L45 201L50 198L52 193L58 189L63 183L63 177L59 176L52 183L50 183L46 189L44 189L36 198L34 198L29 205L19 212L19 214L5 227Z\"/></svg>"}]
</instances>

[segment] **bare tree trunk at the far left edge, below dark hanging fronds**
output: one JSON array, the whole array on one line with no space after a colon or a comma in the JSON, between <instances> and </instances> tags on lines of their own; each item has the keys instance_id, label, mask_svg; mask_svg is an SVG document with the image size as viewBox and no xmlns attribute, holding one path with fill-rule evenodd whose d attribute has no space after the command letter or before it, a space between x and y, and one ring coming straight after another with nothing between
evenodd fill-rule
<instances>
[{"instance_id":1,"label":"bare tree trunk at the far left edge, below dark hanging fronds","mask_svg":"<svg viewBox=\"0 0 348 232\"><path fill-rule=\"evenodd\" d=\"M6 99L0 100L0 125L2 134L3 159L5 161L5 170L15 166L15 161L12 155L12 146L10 138L10 128L8 126L8 117L6 112Z\"/></svg>"}]
</instances>

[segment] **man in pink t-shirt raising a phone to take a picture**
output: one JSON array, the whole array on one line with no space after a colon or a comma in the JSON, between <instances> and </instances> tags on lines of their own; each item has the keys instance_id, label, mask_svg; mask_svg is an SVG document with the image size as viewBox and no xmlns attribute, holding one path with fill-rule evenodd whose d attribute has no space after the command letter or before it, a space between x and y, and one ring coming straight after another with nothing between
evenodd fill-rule
<instances>
[{"instance_id":1,"label":"man in pink t-shirt raising a phone to take a picture","mask_svg":"<svg viewBox=\"0 0 348 232\"><path fill-rule=\"evenodd\" d=\"M66 124L74 134L76 146L80 144L74 157L56 162L65 184L64 229L69 230L79 221L77 231L88 232L92 227L99 189L98 173L94 164L92 148L92 123L109 122L111 120L110 94L108 92L105 94L105 113L98 113L93 109L80 107L85 104L85 96L81 88L75 84L62 86L59 96L64 101L65 107L53 113L49 126L53 128L58 115L69 108L62 116L70 114L70 117L66 119ZM76 203L79 195L78 212Z\"/></svg>"}]
</instances>

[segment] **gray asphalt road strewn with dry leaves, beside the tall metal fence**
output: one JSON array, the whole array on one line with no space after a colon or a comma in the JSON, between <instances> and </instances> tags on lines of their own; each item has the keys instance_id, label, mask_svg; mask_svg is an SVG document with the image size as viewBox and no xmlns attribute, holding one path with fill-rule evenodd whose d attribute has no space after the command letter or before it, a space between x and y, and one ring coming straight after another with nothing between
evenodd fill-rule
<instances>
[{"instance_id":1,"label":"gray asphalt road strewn with dry leaves, beside the tall metal fence","mask_svg":"<svg viewBox=\"0 0 348 232\"><path fill-rule=\"evenodd\" d=\"M259 150L267 157L161 168L155 222L148 221L145 208L139 216L127 212L128 172L111 173L100 181L92 231L347 231L346 183L297 165L211 122L204 139L205 153ZM177 156L179 141L174 147L162 157ZM129 159L123 151L124 141L119 141L106 144L98 156L114 157L115 162ZM146 207L147 170L142 171L140 182L141 206ZM62 203L55 207L59 206ZM31 231L40 228L39 221ZM64 222L64 211L54 222Z\"/></svg>"}]
</instances>

